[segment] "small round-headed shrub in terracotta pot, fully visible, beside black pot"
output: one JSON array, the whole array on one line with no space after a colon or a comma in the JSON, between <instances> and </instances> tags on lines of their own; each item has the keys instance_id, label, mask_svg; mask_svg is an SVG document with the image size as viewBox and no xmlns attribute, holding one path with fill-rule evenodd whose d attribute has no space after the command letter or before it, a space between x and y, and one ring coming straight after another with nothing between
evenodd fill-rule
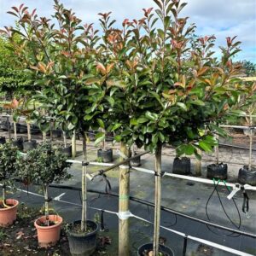
<instances>
[{"instance_id":1,"label":"small round-headed shrub in terracotta pot, fully visible, beside black pot","mask_svg":"<svg viewBox=\"0 0 256 256\"><path fill-rule=\"evenodd\" d=\"M44 189L44 216L35 221L40 247L55 245L60 239L62 218L49 214L49 184L61 182L71 177L67 172L70 166L67 157L59 148L44 143L26 154L20 168L20 178L26 181L37 180Z\"/></svg>"}]
</instances>

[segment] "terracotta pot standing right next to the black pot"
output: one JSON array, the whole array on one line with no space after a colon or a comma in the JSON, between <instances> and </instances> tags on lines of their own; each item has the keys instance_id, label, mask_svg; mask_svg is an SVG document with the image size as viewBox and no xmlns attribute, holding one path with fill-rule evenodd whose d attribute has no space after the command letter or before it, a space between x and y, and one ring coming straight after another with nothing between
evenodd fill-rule
<instances>
[{"instance_id":1,"label":"terracotta pot standing right next to the black pot","mask_svg":"<svg viewBox=\"0 0 256 256\"><path fill-rule=\"evenodd\" d=\"M49 215L49 221L53 221L56 224L51 226L41 226L40 223L45 223L45 216L38 218L35 221L35 227L38 230L38 243L39 247L51 247L54 246L61 236L61 223L63 219L58 215Z\"/></svg>"}]
</instances>

